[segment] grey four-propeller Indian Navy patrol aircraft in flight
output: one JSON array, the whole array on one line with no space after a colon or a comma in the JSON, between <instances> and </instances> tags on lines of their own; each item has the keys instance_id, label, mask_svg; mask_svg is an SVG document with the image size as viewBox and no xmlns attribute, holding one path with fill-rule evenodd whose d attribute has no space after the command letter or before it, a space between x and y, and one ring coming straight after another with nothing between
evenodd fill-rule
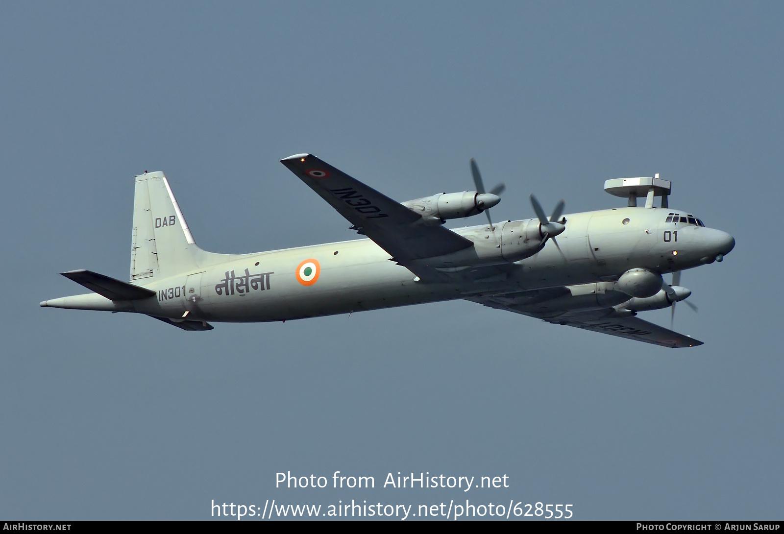
<instances>
[{"instance_id":1,"label":"grey four-propeller Indian Navy patrol aircraft in flight","mask_svg":"<svg viewBox=\"0 0 784 534\"><path fill-rule=\"evenodd\" d=\"M208 321L287 321L465 299L558 325L662 347L701 341L637 312L672 307L691 291L684 269L721 261L731 235L691 212L670 209L659 175L607 180L626 207L493 223L503 184L395 202L312 154L281 160L366 238L251 254L198 248L163 173L136 176L130 281L93 271L63 273L92 292L44 307L147 314L184 330ZM654 207L655 197L661 198ZM637 198L645 204L638 206ZM448 229L446 220L484 212L488 224ZM662 274L672 273L672 284ZM670 325L672 328L672 325Z\"/></svg>"}]
</instances>

